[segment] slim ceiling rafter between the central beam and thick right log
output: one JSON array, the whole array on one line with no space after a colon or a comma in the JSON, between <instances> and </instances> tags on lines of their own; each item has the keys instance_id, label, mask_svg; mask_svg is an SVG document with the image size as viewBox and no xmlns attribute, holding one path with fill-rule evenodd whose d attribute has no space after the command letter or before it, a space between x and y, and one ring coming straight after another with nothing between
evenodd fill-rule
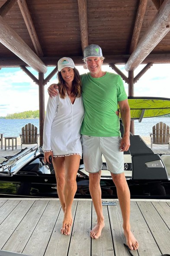
<instances>
[{"instance_id":1,"label":"slim ceiling rafter between the central beam and thick right log","mask_svg":"<svg viewBox=\"0 0 170 256\"><path fill-rule=\"evenodd\" d=\"M139 2L138 12L135 20L135 27L133 29L133 36L132 36L132 41L131 41L130 50L129 50L130 54L135 50L138 44L139 35L141 33L141 27L144 20L144 13L147 7L147 2L148 0L140 0Z\"/></svg>"}]
</instances>

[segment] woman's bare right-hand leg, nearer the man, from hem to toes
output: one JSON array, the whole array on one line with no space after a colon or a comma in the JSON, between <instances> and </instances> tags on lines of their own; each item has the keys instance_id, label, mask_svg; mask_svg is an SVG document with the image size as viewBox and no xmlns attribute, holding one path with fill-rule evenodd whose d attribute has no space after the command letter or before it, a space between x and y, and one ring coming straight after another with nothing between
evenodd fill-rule
<instances>
[{"instance_id":1,"label":"woman's bare right-hand leg, nearer the man, from hem to toes","mask_svg":"<svg viewBox=\"0 0 170 256\"><path fill-rule=\"evenodd\" d=\"M73 223L71 206L75 193L77 191L77 171L80 165L80 156L71 155L65 156L65 184L64 184L64 199L65 199L65 212L63 219L64 234L69 235L71 231L71 225Z\"/></svg>"}]
</instances>

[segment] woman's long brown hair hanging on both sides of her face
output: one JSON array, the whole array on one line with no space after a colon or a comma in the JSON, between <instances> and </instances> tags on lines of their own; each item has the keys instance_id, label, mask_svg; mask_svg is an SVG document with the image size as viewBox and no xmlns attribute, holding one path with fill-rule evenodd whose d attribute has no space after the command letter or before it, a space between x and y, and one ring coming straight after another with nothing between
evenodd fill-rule
<instances>
[{"instance_id":1,"label":"woman's long brown hair hanging on both sides of her face","mask_svg":"<svg viewBox=\"0 0 170 256\"><path fill-rule=\"evenodd\" d=\"M80 74L76 68L74 68L73 70L74 70L74 80L72 84L71 95L79 98L82 93ZM58 77L58 91L59 91L60 97L64 99L67 94L67 86L61 76L61 72L58 72L57 77Z\"/></svg>"}]
</instances>

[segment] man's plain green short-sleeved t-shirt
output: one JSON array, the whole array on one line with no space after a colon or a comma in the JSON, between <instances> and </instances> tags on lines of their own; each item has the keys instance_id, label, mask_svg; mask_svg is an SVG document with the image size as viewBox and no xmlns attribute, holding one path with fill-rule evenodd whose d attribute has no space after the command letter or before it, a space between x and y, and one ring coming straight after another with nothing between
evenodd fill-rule
<instances>
[{"instance_id":1,"label":"man's plain green short-sleeved t-shirt","mask_svg":"<svg viewBox=\"0 0 170 256\"><path fill-rule=\"evenodd\" d=\"M118 101L127 95L121 76L106 72L105 76L93 78L90 73L81 75L83 86L84 119L81 134L87 136L120 136L119 116L115 111Z\"/></svg>"}]
</instances>

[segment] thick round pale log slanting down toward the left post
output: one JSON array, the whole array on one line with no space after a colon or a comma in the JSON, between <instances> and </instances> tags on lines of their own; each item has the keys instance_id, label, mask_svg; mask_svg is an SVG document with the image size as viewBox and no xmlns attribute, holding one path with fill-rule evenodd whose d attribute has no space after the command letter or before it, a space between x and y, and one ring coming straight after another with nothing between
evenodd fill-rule
<instances>
[{"instance_id":1,"label":"thick round pale log slanting down toward the left post","mask_svg":"<svg viewBox=\"0 0 170 256\"><path fill-rule=\"evenodd\" d=\"M47 67L38 56L29 48L21 37L0 16L0 42L11 50L21 60L38 72L47 72Z\"/></svg>"}]
</instances>

